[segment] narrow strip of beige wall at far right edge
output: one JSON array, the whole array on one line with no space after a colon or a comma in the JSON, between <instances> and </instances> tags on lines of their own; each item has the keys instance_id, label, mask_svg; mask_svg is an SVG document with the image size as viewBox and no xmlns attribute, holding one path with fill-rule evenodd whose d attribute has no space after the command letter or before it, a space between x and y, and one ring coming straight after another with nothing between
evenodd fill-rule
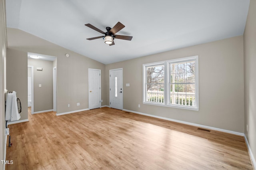
<instances>
[{"instance_id":1,"label":"narrow strip of beige wall at far right edge","mask_svg":"<svg viewBox=\"0 0 256 170\"><path fill-rule=\"evenodd\" d=\"M244 133L256 159L256 0L250 7L244 30ZM246 130L248 125L248 132Z\"/></svg>"}]
</instances>

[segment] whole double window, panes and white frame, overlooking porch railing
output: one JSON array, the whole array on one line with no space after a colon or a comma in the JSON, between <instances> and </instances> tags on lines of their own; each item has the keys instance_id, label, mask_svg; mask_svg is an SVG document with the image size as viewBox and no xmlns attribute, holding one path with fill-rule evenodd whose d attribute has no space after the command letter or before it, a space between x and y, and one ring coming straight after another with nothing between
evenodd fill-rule
<instances>
[{"instance_id":1,"label":"whole double window, panes and white frame, overlooking porch railing","mask_svg":"<svg viewBox=\"0 0 256 170\"><path fill-rule=\"evenodd\" d=\"M198 110L198 56L144 64L143 77L144 104Z\"/></svg>"}]
</instances>

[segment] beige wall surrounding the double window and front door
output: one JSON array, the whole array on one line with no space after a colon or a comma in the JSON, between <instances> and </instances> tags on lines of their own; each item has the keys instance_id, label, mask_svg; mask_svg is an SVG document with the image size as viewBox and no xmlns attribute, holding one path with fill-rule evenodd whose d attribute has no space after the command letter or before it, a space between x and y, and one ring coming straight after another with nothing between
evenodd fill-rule
<instances>
[{"instance_id":1,"label":"beige wall surrounding the double window and front door","mask_svg":"<svg viewBox=\"0 0 256 170\"><path fill-rule=\"evenodd\" d=\"M199 111L142 103L142 64L194 55L199 55ZM123 68L124 109L244 132L243 62L243 36L238 36L108 64L106 77L110 69ZM109 89L109 79L106 85Z\"/></svg>"}]
</instances>

